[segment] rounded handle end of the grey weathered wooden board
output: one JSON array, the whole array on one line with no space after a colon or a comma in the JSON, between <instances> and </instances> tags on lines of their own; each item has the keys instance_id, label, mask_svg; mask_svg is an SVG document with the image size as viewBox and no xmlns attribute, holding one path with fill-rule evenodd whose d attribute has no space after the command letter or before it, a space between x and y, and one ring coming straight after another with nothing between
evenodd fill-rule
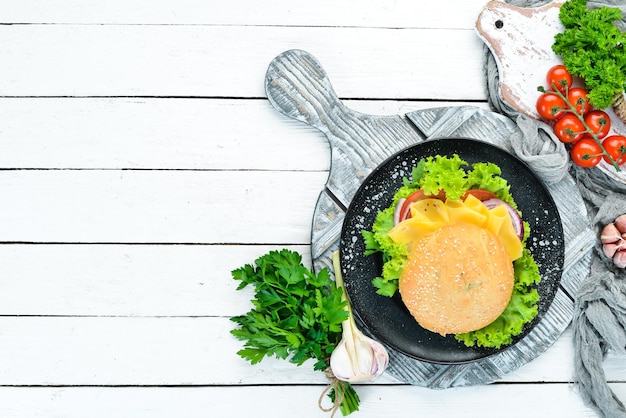
<instances>
[{"instance_id":1,"label":"rounded handle end of the grey weathered wooden board","mask_svg":"<svg viewBox=\"0 0 626 418\"><path fill-rule=\"evenodd\" d=\"M281 113L323 132L328 130L328 109L350 113L320 63L306 51L292 49L274 58L265 75L265 91Z\"/></svg>"}]
</instances>

